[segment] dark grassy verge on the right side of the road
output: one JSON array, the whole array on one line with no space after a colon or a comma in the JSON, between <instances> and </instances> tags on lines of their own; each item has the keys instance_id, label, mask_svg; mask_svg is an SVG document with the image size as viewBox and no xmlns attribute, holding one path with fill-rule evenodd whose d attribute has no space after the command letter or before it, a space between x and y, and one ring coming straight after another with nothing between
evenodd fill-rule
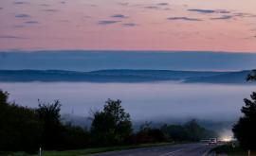
<instances>
[{"instance_id":1,"label":"dark grassy verge on the right side of the road","mask_svg":"<svg viewBox=\"0 0 256 156\"><path fill-rule=\"evenodd\" d=\"M247 151L240 147L232 147L231 144L215 147L211 150L216 154L225 154L228 156L247 156ZM251 156L256 156L256 152L252 151Z\"/></svg>"}]
</instances>

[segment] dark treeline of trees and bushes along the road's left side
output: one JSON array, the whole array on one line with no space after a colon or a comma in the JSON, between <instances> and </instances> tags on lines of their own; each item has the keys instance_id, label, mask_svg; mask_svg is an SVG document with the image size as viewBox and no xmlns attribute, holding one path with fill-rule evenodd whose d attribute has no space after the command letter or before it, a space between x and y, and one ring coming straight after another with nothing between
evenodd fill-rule
<instances>
[{"instance_id":1,"label":"dark treeline of trees and bushes along the road's left side","mask_svg":"<svg viewBox=\"0 0 256 156\"><path fill-rule=\"evenodd\" d=\"M131 117L120 100L108 99L102 111L91 116L90 129L62 123L61 103L39 101L37 109L8 101L9 94L0 90L0 151L36 152L43 149L66 150L142 143L199 141L216 137L195 120L184 125L152 128L149 123L133 130Z\"/></svg>"}]
</instances>

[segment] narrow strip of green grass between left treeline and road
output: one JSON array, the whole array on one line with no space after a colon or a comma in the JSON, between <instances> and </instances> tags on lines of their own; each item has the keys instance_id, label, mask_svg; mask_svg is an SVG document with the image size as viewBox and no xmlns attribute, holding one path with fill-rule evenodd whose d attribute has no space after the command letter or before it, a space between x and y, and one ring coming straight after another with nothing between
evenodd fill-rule
<instances>
[{"instance_id":1,"label":"narrow strip of green grass between left treeline and road","mask_svg":"<svg viewBox=\"0 0 256 156\"><path fill-rule=\"evenodd\" d=\"M124 150L124 149L133 149L139 147L160 147L160 146L169 146L174 145L174 143L156 143L156 144L141 144L141 145L134 145L134 146L123 146L123 147L97 147L97 148L85 148L85 149L78 149L78 150L65 150L65 151L43 151L43 156L83 156L88 154L94 153L101 153L106 151L117 151L117 150ZM29 155L25 152L13 152L8 154L0 154L1 156L37 156Z\"/></svg>"}]
</instances>

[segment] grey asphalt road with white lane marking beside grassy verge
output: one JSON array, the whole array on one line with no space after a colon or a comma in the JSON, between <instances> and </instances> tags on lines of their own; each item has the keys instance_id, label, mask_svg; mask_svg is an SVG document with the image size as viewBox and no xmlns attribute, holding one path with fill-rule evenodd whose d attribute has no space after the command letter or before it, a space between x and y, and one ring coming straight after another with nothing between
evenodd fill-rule
<instances>
[{"instance_id":1,"label":"grey asphalt road with white lane marking beside grassy verge","mask_svg":"<svg viewBox=\"0 0 256 156\"><path fill-rule=\"evenodd\" d=\"M207 144L183 144L164 147L143 147L121 151L111 151L92 156L207 156L214 146Z\"/></svg>"}]
</instances>

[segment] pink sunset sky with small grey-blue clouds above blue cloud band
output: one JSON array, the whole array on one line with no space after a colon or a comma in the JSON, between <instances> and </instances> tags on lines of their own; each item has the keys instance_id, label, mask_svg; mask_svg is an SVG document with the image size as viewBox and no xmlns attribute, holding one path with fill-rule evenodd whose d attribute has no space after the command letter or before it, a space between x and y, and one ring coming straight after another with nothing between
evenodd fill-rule
<instances>
[{"instance_id":1,"label":"pink sunset sky with small grey-blue clouds above blue cloud band","mask_svg":"<svg viewBox=\"0 0 256 156\"><path fill-rule=\"evenodd\" d=\"M255 0L0 0L0 50L256 53Z\"/></svg>"}]
</instances>

